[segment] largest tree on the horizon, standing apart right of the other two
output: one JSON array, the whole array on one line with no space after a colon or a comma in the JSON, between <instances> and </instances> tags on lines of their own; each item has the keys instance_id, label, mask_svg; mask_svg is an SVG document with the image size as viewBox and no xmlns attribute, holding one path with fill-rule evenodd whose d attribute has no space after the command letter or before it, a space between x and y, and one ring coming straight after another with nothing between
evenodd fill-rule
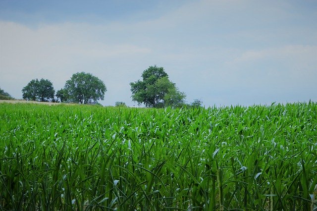
<instances>
[{"instance_id":1,"label":"largest tree on the horizon, standing apart right of the other two","mask_svg":"<svg viewBox=\"0 0 317 211\"><path fill-rule=\"evenodd\" d=\"M147 107L180 106L186 95L168 79L163 67L150 66L142 73L142 81L130 83L132 100Z\"/></svg>"}]
</instances>

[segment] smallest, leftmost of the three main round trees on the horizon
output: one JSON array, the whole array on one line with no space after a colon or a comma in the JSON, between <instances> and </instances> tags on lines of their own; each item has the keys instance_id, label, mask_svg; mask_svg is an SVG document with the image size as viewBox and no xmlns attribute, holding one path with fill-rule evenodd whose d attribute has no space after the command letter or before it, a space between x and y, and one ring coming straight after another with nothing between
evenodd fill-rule
<instances>
[{"instance_id":1,"label":"smallest, leftmost of the three main round trees on the horizon","mask_svg":"<svg viewBox=\"0 0 317 211\"><path fill-rule=\"evenodd\" d=\"M55 90L53 83L48 79L31 80L22 89L22 97L24 100L46 102L54 99Z\"/></svg>"}]
</instances>

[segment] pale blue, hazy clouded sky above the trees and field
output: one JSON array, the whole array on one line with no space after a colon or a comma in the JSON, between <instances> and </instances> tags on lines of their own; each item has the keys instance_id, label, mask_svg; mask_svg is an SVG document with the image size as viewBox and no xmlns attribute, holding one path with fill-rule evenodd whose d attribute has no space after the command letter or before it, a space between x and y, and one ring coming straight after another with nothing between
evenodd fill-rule
<instances>
[{"instance_id":1,"label":"pale blue, hazy clouded sky above the trees and field","mask_svg":"<svg viewBox=\"0 0 317 211\"><path fill-rule=\"evenodd\" d=\"M104 106L138 106L149 66L204 106L317 102L316 0L0 0L0 87L57 91L76 72L103 80Z\"/></svg>"}]
</instances>

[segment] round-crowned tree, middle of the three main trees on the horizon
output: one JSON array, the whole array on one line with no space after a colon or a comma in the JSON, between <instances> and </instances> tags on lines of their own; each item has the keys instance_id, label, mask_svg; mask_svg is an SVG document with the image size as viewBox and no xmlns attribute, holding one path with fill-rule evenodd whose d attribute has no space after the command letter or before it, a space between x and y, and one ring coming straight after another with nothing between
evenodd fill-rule
<instances>
[{"instance_id":1,"label":"round-crowned tree, middle of the three main trees on the horizon","mask_svg":"<svg viewBox=\"0 0 317 211\"><path fill-rule=\"evenodd\" d=\"M106 85L98 77L91 73L77 72L72 75L70 80L65 83L66 90L70 101L89 104L104 100Z\"/></svg>"}]
</instances>

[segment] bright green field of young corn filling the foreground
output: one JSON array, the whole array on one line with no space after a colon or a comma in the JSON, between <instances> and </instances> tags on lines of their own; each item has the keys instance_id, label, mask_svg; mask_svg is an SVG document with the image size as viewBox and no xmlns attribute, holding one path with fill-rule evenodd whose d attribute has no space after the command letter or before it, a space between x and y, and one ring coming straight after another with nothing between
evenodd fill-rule
<instances>
[{"instance_id":1,"label":"bright green field of young corn filling the foreground","mask_svg":"<svg viewBox=\"0 0 317 211\"><path fill-rule=\"evenodd\" d=\"M0 104L0 210L317 210L317 104Z\"/></svg>"}]
</instances>

